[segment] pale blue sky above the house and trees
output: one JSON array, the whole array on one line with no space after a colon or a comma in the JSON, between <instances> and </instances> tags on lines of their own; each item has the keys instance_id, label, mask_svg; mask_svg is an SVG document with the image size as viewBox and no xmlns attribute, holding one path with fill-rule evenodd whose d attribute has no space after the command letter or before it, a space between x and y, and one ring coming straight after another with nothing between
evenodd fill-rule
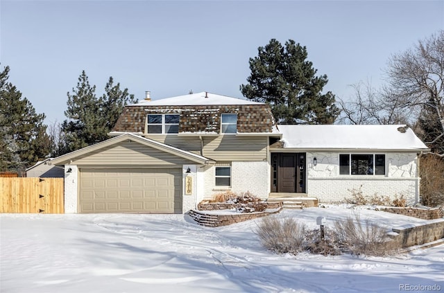
<instances>
[{"instance_id":1,"label":"pale blue sky above the house and trees","mask_svg":"<svg viewBox=\"0 0 444 293\"><path fill-rule=\"evenodd\" d=\"M85 70L153 100L200 91L244 98L248 60L270 39L293 39L327 75L324 91L380 87L388 58L444 29L444 1L0 0L0 66L45 123L66 119Z\"/></svg>"}]
</instances>

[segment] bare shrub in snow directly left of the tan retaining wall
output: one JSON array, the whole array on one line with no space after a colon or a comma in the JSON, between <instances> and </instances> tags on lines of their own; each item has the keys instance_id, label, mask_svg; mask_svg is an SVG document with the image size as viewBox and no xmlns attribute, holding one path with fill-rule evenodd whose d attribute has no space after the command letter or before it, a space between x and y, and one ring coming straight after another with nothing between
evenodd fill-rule
<instances>
[{"instance_id":1,"label":"bare shrub in snow directly left of the tan retaining wall","mask_svg":"<svg viewBox=\"0 0 444 293\"><path fill-rule=\"evenodd\" d=\"M357 256L386 256L399 249L399 243L388 238L386 229L368 220L363 223L359 215L336 221L334 228L334 240Z\"/></svg>"}]
</instances>

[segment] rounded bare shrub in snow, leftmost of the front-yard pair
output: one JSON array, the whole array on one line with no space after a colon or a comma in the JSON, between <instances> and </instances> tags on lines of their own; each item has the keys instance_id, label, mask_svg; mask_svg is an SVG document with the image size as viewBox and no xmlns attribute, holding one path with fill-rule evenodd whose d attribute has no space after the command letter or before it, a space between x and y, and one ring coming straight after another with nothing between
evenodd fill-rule
<instances>
[{"instance_id":1,"label":"rounded bare shrub in snow, leftmost of the front-yard pair","mask_svg":"<svg viewBox=\"0 0 444 293\"><path fill-rule=\"evenodd\" d=\"M305 224L287 217L262 217L256 233L262 245L277 254L298 254L305 246Z\"/></svg>"}]
</instances>

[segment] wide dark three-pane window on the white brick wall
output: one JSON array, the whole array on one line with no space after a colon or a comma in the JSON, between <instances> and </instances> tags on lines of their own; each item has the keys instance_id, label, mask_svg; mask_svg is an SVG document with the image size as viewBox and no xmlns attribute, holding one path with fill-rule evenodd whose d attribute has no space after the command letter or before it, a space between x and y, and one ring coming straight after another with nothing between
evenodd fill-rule
<instances>
[{"instance_id":1,"label":"wide dark three-pane window on the white brick wall","mask_svg":"<svg viewBox=\"0 0 444 293\"><path fill-rule=\"evenodd\" d=\"M385 154L339 154L340 175L385 175Z\"/></svg>"}]
</instances>

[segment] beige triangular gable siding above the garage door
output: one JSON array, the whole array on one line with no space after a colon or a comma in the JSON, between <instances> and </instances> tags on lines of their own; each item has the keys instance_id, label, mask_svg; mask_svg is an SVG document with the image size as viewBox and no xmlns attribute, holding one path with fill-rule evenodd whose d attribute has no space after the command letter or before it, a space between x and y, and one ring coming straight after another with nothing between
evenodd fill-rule
<instances>
[{"instance_id":1,"label":"beige triangular gable siding above the garage door","mask_svg":"<svg viewBox=\"0 0 444 293\"><path fill-rule=\"evenodd\" d=\"M124 141L89 152L71 164L80 166L178 166L193 163L187 159L135 142Z\"/></svg>"}]
</instances>

